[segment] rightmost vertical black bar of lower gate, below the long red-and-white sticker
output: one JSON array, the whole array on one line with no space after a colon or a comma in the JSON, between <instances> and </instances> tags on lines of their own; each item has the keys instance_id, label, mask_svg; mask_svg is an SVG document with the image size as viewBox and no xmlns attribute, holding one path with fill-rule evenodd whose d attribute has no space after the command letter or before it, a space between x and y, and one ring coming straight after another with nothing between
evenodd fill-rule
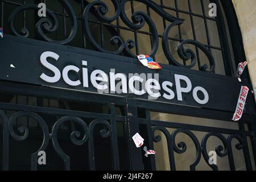
<instances>
[{"instance_id":1,"label":"rightmost vertical black bar of lower gate, below the long red-and-white sticker","mask_svg":"<svg viewBox=\"0 0 256 182\"><path fill-rule=\"evenodd\" d=\"M238 122L239 129L242 131L245 131L245 124L243 121ZM248 148L248 143L247 143L247 137L245 135L242 135L243 140L245 141L245 146L243 147L243 158L245 159L245 165L247 171L252 171L253 167L251 165L251 158L250 158L250 152Z\"/></svg>"}]
</instances>

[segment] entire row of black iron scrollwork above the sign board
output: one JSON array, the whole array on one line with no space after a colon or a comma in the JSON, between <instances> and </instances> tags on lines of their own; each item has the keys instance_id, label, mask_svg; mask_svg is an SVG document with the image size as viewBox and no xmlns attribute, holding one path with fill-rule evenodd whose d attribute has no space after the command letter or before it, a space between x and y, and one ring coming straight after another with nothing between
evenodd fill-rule
<instances>
[{"instance_id":1,"label":"entire row of black iron scrollwork above the sign board","mask_svg":"<svg viewBox=\"0 0 256 182\"><path fill-rule=\"evenodd\" d=\"M122 19L122 22L125 23L126 26L133 31L141 30L145 26L145 24L148 24L149 31L150 31L148 32L150 33L148 35L151 36L152 49L151 49L151 52L148 52L147 54L150 55L151 57L155 56L159 48L159 37L160 37L160 35L158 34L158 30L155 26L155 23L150 18L150 16L144 13L143 11L134 12L131 15L131 20L130 20L126 15L126 9L125 9L125 5L129 1L130 0L122 0L122 1L111 0L114 6L114 11L115 11L112 17L106 16L106 14L109 12L109 7L108 5L106 5L106 3L100 0L92 1L88 3L88 5L86 5L82 14L82 22L83 22L82 24L84 27L87 40L96 51L113 53L116 55L119 55L123 52L127 56L136 57L136 55L132 53L133 51L131 51L131 49L135 47L134 40L131 40L131 39L123 40L121 35L114 35L110 39L110 43L112 43L113 45L118 45L118 48L115 51L109 51L108 49L105 49L102 45L97 43L96 40L94 40L93 35L91 33L92 30L90 30L90 19L89 19L90 12L92 12L93 10L94 15L96 15L97 19L100 20L100 22L102 23L109 24L109 26L112 26L112 23L115 20L117 20L119 17ZM185 44L191 44L196 48L201 49L201 51L203 51L203 53L208 57L208 60L209 60L209 65L208 64L200 65L199 69L201 71L214 72L215 63L214 63L214 58L212 54L210 53L207 47L205 47L200 42L197 42L196 40L190 40L190 39L183 40L183 42L181 42L177 47L177 54L184 61L184 64L179 63L179 61L175 60L174 56L172 55L170 51L170 40L169 40L168 34L170 33L172 27L180 26L184 22L184 19L176 18L175 16L168 14L166 11L164 11L164 9L161 6L159 6L154 1L145 1L145 0L133 0L133 1L143 3L147 7L150 7L150 9L154 10L157 14L159 14L164 20L171 22L170 25L167 26L166 29L164 30L163 38L162 38L163 52L171 65L176 65L178 67L185 67L189 69L193 68L196 65L197 56L195 52L193 52L192 49L189 49L189 48L185 49L184 47ZM59 0L59 2L65 7L65 9L69 14L69 17L72 19L71 32L68 38L64 40L52 40L46 35L46 33L55 32L59 27L59 23L56 15L49 9L47 9L47 18L41 18L36 23L36 32L43 40L46 40L47 42L67 44L71 42L71 40L73 40L73 38L75 38L76 36L77 19L72 6L69 4L67 0L63 0L63 1ZM10 16L9 22L10 22L11 32L16 36L28 37L29 35L29 31L27 30L26 27L23 27L20 32L17 32L14 27L15 16L19 12L26 11L26 10L39 10L39 8L38 8L38 5L28 4L28 5L20 6L13 11L13 13ZM108 40L105 40L105 41L108 41ZM188 64L189 60L191 60L190 64Z\"/></svg>"}]
</instances>

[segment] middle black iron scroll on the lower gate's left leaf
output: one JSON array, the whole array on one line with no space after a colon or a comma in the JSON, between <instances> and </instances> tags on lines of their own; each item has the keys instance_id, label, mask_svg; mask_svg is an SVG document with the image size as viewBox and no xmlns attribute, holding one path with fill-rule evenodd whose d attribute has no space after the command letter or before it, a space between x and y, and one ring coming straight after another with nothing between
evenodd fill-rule
<instances>
[{"instance_id":1,"label":"middle black iron scroll on the lower gate's left leaf","mask_svg":"<svg viewBox=\"0 0 256 182\"><path fill-rule=\"evenodd\" d=\"M67 122L67 121L73 121L79 123L80 126L82 126L82 129L84 130L84 137L81 140L77 140L76 138L80 137L79 131L73 131L70 134L71 142L77 146L80 146L84 144L88 138L89 138L89 129L86 123L79 117L71 117L71 116L64 116L56 121L56 123L52 127L52 144L54 150L57 152L57 155L64 161L65 170L70 170L70 158L67 154L64 153L64 151L60 148L58 139L57 139L57 131L59 130L61 123Z\"/></svg>"}]
</instances>

